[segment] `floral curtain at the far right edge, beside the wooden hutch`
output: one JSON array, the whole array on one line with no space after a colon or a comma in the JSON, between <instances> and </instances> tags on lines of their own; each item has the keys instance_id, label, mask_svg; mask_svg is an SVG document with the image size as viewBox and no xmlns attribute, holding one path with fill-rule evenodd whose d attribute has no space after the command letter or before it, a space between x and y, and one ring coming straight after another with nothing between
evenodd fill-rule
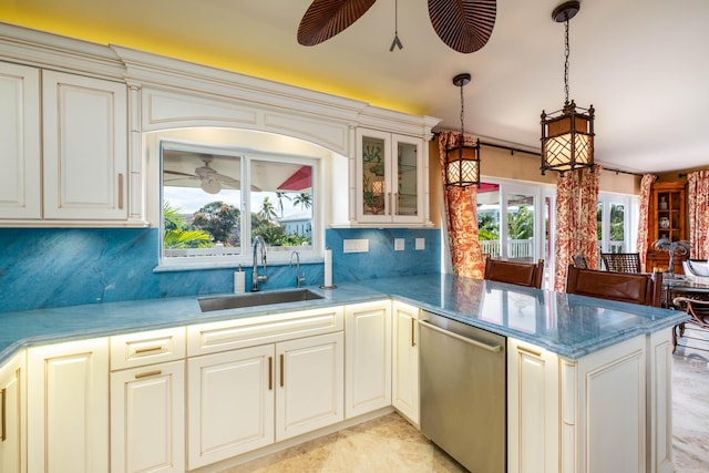
<instances>
[{"instance_id":1,"label":"floral curtain at the far right edge, beside the wooden hutch","mask_svg":"<svg viewBox=\"0 0 709 473\"><path fill-rule=\"evenodd\" d=\"M689 254L692 259L709 257L709 171L687 174L689 202Z\"/></svg>"}]
</instances>

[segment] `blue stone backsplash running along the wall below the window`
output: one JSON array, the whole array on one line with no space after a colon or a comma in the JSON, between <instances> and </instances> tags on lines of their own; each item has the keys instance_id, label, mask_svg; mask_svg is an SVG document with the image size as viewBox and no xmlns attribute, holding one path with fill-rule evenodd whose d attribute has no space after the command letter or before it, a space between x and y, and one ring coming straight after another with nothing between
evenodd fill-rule
<instances>
[{"instance_id":1,"label":"blue stone backsplash running along the wall below the window","mask_svg":"<svg viewBox=\"0 0 709 473\"><path fill-rule=\"evenodd\" d=\"M0 228L0 312L83 304L230 292L234 268L163 271L156 228ZM343 253L343 240L369 239L369 253ZM394 238L404 250L394 251ZM415 238L425 249L415 250ZM328 229L333 282L440 273L440 230ZM304 264L305 285L322 284L322 263ZM246 287L250 287L250 267ZM268 267L263 289L295 285L295 269Z\"/></svg>"}]
</instances>

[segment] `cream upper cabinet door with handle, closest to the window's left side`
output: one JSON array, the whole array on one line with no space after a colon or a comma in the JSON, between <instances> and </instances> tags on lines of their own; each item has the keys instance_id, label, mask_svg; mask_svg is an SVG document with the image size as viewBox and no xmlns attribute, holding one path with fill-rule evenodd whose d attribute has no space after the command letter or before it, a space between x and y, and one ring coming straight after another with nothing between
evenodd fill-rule
<instances>
[{"instance_id":1,"label":"cream upper cabinet door with handle, closest to the window's left side","mask_svg":"<svg viewBox=\"0 0 709 473\"><path fill-rule=\"evenodd\" d=\"M44 218L127 218L125 84L42 72Z\"/></svg>"}]
</instances>

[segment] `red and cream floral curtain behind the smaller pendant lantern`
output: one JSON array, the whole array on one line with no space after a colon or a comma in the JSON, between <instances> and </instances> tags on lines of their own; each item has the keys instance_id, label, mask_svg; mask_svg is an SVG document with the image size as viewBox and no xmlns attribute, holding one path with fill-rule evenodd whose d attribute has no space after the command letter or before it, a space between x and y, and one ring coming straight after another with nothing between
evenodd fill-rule
<instances>
[{"instance_id":1,"label":"red and cream floral curtain behind the smaller pendant lantern","mask_svg":"<svg viewBox=\"0 0 709 473\"><path fill-rule=\"evenodd\" d=\"M475 141L465 136L465 144L473 146ZM448 239L451 250L453 273L458 276L482 279L484 260L477 240L477 188L475 186L445 186L445 148L456 146L460 133L441 132L439 134L439 154L443 176L443 196Z\"/></svg>"}]
</instances>

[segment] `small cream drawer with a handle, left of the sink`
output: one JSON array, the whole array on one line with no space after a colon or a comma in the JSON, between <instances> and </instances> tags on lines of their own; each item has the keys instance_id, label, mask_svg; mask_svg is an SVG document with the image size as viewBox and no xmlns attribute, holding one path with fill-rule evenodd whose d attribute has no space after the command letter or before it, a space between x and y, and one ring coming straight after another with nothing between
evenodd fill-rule
<instances>
[{"instance_id":1,"label":"small cream drawer with a handle, left of the sink","mask_svg":"<svg viewBox=\"0 0 709 473\"><path fill-rule=\"evenodd\" d=\"M184 327L111 337L111 370L178 360L185 351Z\"/></svg>"}]
</instances>

